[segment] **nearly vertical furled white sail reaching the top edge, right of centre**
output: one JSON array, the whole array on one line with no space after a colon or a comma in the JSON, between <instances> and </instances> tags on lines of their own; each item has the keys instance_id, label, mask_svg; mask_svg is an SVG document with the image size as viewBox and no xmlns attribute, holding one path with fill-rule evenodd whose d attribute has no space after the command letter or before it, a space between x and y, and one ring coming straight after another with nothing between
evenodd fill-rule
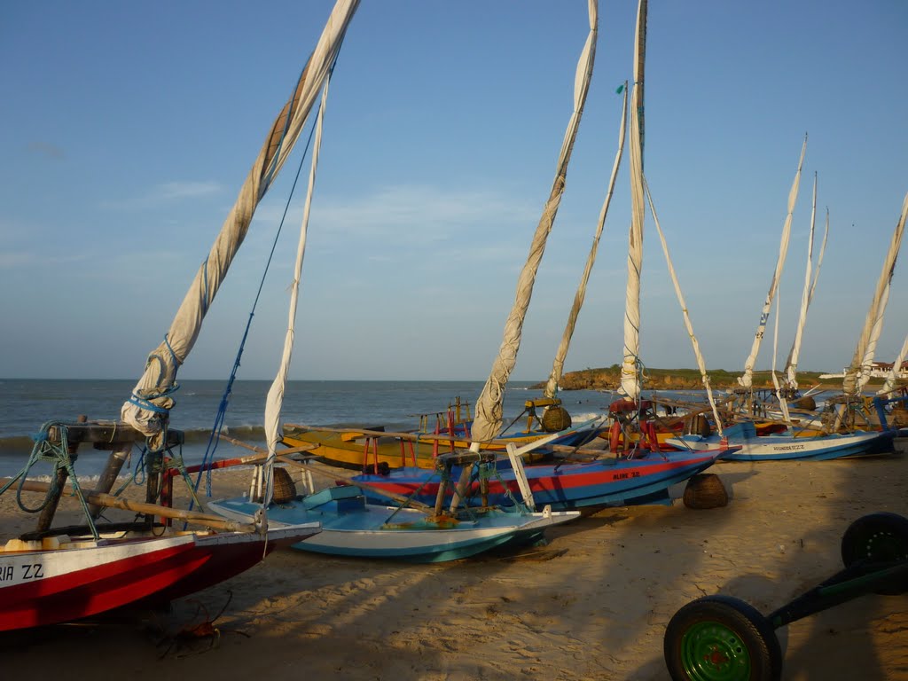
<instances>
[{"instance_id":1,"label":"nearly vertical furled white sail reaching the top edge, right of centre","mask_svg":"<svg viewBox=\"0 0 908 681\"><path fill-rule=\"evenodd\" d=\"M627 236L627 289L625 291L624 358L620 391L627 400L640 398L640 274L643 270L643 142L644 63L646 61L646 0L637 5L637 41L634 44L634 92L630 118L631 221Z\"/></svg>"}]
</instances>

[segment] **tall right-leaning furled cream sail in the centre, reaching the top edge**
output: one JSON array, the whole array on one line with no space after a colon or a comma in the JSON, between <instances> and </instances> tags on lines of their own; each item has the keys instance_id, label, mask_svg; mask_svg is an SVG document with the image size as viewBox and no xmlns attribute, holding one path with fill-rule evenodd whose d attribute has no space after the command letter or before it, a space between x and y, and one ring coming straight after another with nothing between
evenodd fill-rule
<instances>
[{"instance_id":1,"label":"tall right-leaning furled cream sail in the centre, reaching the top edge","mask_svg":"<svg viewBox=\"0 0 908 681\"><path fill-rule=\"evenodd\" d=\"M551 232L552 223L555 222L558 204L561 202L561 194L564 192L568 162L570 161L571 151L574 148L574 140L577 138L577 128L580 124L580 117L583 114L583 107L587 101L589 80L593 73L593 63L596 56L597 0L589 0L588 15L589 34L587 35L587 42L584 45L583 52L577 62L577 74L574 79L574 111L571 114L568 130L561 144L561 153L558 154L555 181L552 183L548 201L533 235L527 262L518 277L517 293L514 305L508 315L508 321L505 323L504 338L498 348L498 357L492 363L489 379L486 381L482 392L479 394L479 400L476 402L472 429L473 449L479 449L480 441L495 438L501 429L505 386L508 383L510 372L514 370L514 366L517 364L523 321L526 318L529 300L533 294L536 272L538 271L539 262L542 260L542 254L546 249L548 233Z\"/></svg>"}]
</instances>

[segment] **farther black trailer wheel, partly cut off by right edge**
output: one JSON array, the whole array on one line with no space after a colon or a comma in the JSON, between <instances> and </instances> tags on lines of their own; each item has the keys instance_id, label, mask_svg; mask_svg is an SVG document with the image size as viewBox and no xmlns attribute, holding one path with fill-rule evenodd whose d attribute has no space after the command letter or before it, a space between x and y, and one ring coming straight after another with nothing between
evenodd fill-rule
<instances>
[{"instance_id":1,"label":"farther black trailer wheel, partly cut off by right edge","mask_svg":"<svg viewBox=\"0 0 908 681\"><path fill-rule=\"evenodd\" d=\"M896 513L871 513L855 520L842 536L842 562L850 568L860 561L908 561L908 518ZM908 579L893 578L874 589L886 596L908 591Z\"/></svg>"}]
</instances>

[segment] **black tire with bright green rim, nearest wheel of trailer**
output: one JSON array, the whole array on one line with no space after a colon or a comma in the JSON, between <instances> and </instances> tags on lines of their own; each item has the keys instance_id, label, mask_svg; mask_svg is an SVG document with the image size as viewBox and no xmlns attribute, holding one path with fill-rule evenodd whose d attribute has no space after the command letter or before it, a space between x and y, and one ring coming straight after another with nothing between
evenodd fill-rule
<instances>
[{"instance_id":1,"label":"black tire with bright green rim, nearest wheel of trailer","mask_svg":"<svg viewBox=\"0 0 908 681\"><path fill-rule=\"evenodd\" d=\"M666 666L674 681L778 681L782 650L769 620L743 600L697 598L666 627Z\"/></svg>"}]
</instances>

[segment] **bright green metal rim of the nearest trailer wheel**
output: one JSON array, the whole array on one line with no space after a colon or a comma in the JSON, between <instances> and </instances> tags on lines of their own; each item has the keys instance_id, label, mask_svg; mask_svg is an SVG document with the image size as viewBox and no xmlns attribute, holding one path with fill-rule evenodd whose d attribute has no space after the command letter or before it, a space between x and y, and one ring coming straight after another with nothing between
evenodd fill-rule
<instances>
[{"instance_id":1,"label":"bright green metal rim of the nearest trailer wheel","mask_svg":"<svg viewBox=\"0 0 908 681\"><path fill-rule=\"evenodd\" d=\"M749 679L750 652L734 629L698 622L681 638L681 664L692 681Z\"/></svg>"}]
</instances>

